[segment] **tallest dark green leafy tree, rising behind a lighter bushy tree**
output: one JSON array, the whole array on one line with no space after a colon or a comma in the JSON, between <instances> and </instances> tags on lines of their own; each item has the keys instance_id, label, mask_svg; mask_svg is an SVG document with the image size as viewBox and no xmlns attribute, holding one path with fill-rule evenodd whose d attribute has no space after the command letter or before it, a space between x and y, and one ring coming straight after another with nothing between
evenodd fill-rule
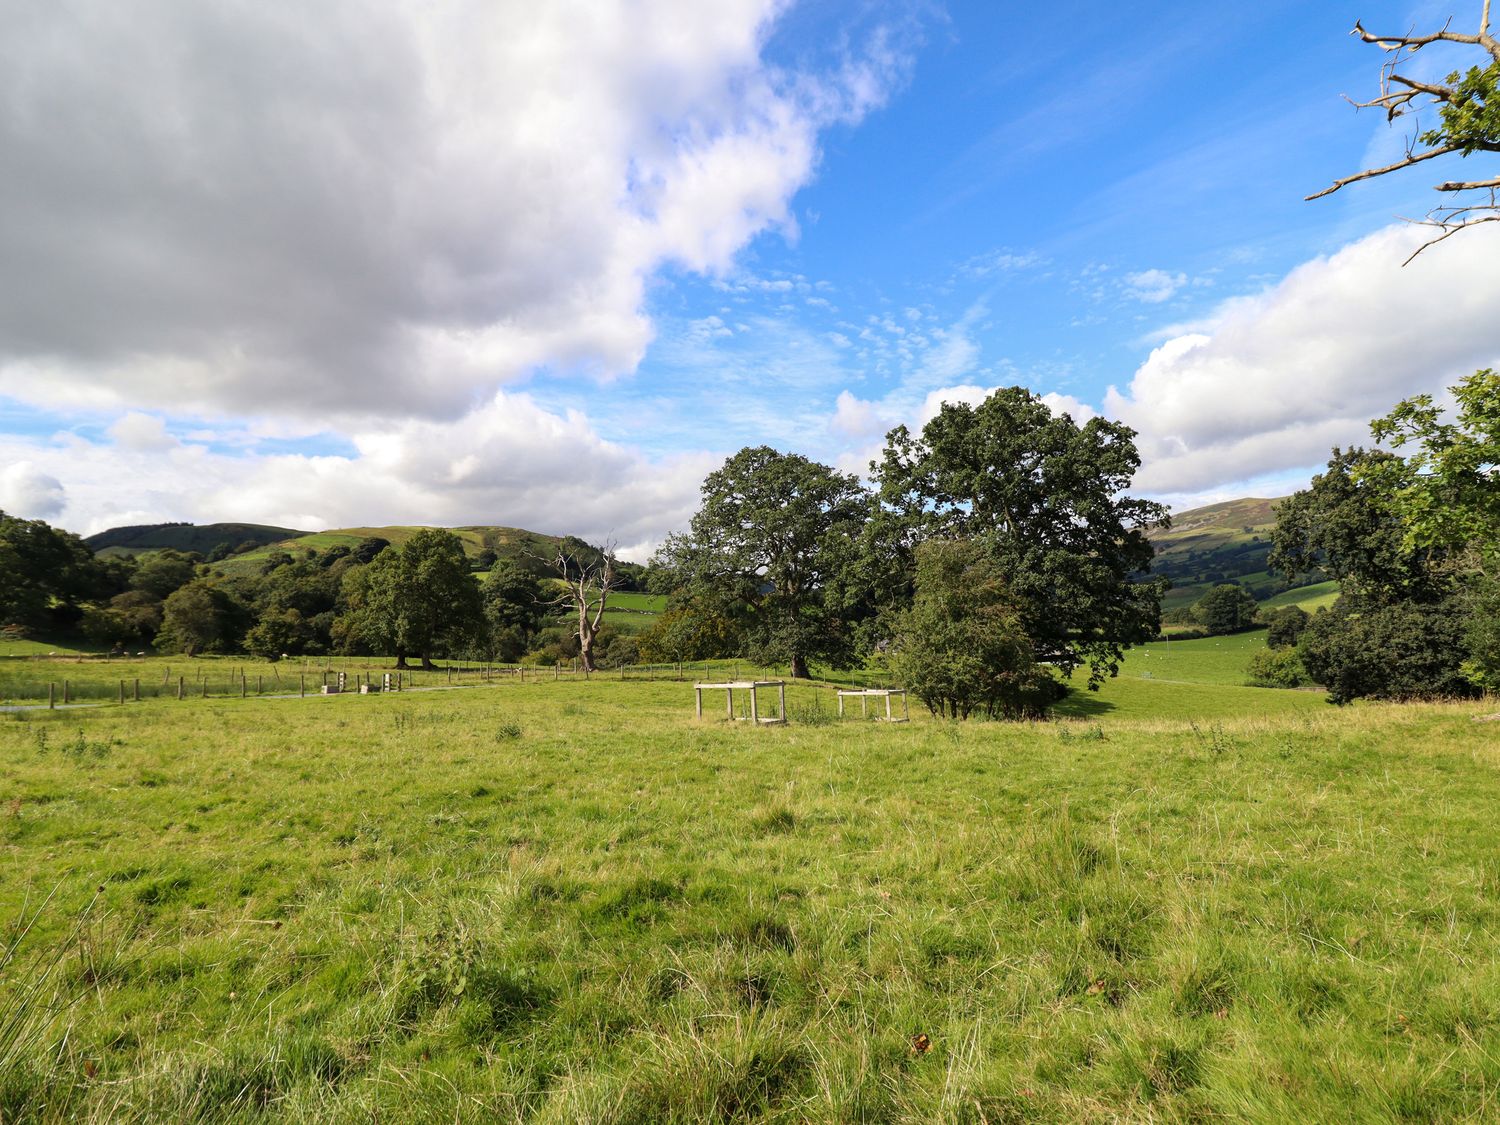
<instances>
[{"instance_id":1,"label":"tallest dark green leafy tree, rising behind a lighter bushy tree","mask_svg":"<svg viewBox=\"0 0 1500 1125\"><path fill-rule=\"evenodd\" d=\"M1167 510L1124 495L1140 466L1134 436L1053 414L1023 387L945 404L920 436L891 430L876 470L885 512L873 520L885 566L900 567L922 538L982 543L1036 658L1064 674L1088 664L1096 688L1126 646L1161 628L1161 584L1143 576L1146 530Z\"/></svg>"}]
</instances>

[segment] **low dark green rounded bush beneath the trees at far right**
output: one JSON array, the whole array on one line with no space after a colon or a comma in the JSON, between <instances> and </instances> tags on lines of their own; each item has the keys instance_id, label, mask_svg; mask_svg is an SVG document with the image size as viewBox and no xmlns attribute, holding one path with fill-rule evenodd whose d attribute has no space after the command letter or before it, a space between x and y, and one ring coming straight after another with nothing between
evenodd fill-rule
<instances>
[{"instance_id":1,"label":"low dark green rounded bush beneath the trees at far right","mask_svg":"<svg viewBox=\"0 0 1500 1125\"><path fill-rule=\"evenodd\" d=\"M1312 615L1296 651L1334 704L1476 694L1462 670L1464 616L1456 600L1354 609L1341 598L1332 610Z\"/></svg>"}]
</instances>

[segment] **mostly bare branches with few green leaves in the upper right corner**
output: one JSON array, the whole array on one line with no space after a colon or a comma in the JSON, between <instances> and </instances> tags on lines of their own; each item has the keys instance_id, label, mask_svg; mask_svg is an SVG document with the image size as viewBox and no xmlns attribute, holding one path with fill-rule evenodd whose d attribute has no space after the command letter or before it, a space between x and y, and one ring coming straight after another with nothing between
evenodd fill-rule
<instances>
[{"instance_id":1,"label":"mostly bare branches with few green leaves in the upper right corner","mask_svg":"<svg viewBox=\"0 0 1500 1125\"><path fill-rule=\"evenodd\" d=\"M1347 188L1360 180L1372 180L1377 176L1410 168L1414 164L1437 159L1438 156L1472 156L1476 152L1500 153L1500 40L1490 32L1490 4L1484 2L1484 12L1479 16L1479 33L1464 34L1452 30L1452 20L1443 24L1442 30L1431 34L1384 36L1366 32L1359 22L1350 34L1362 42L1372 44L1389 57L1380 68L1380 94L1368 102L1347 99L1356 110L1384 110L1386 122L1398 117L1412 117L1416 128L1406 142L1406 156L1383 168L1366 168L1354 176L1335 180L1330 186L1306 196L1320 200L1332 195L1340 188ZM1443 82L1425 82L1401 74L1401 68L1424 46L1432 44L1460 44L1478 46L1490 54L1490 64L1472 66L1467 72L1452 72ZM1420 112L1436 110L1438 124L1432 129L1420 128ZM1484 222L1500 222L1500 176L1476 180L1446 180L1434 184L1438 192L1454 195L1454 202L1444 202L1428 212L1425 219L1407 219L1407 222L1430 226L1437 231L1422 243L1413 254L1425 250L1458 231L1478 226ZM1458 198L1458 192L1476 192ZM1407 262L1412 261L1407 258ZM1402 262L1402 264L1407 264Z\"/></svg>"}]
</instances>

